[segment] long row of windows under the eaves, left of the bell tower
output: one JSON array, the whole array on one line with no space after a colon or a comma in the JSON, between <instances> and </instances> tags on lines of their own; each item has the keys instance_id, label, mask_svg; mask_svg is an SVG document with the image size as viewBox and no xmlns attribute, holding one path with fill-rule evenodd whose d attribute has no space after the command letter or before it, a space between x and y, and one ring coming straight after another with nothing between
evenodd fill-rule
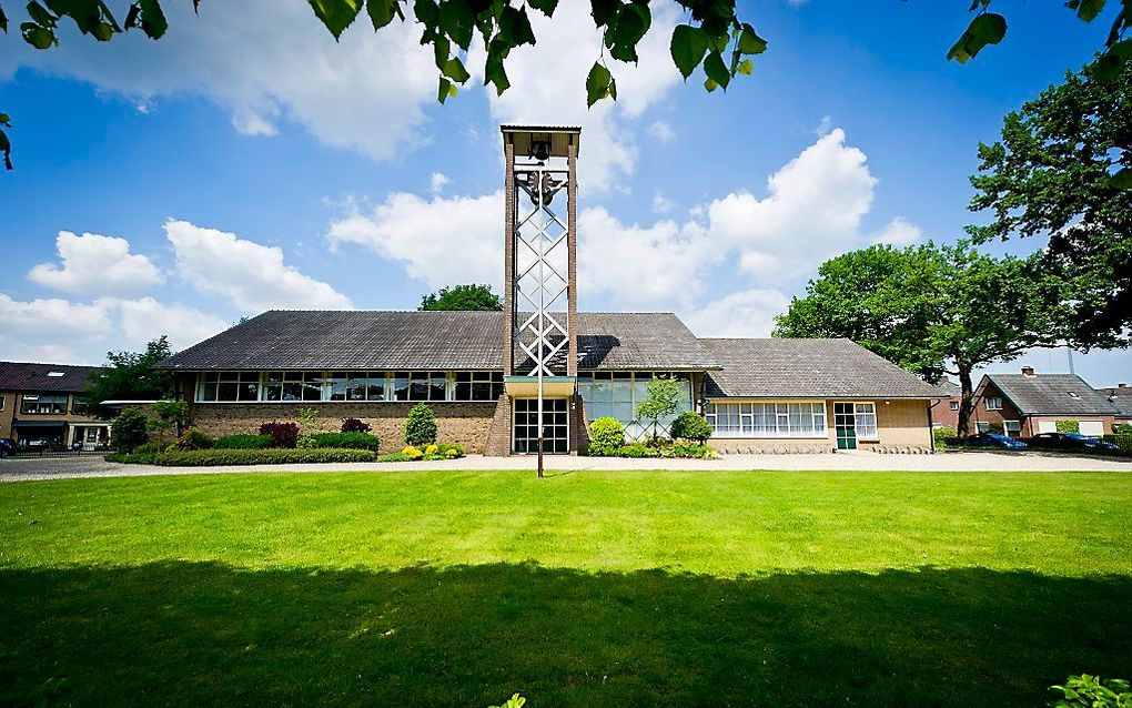
<instances>
[{"instance_id":1,"label":"long row of windows under the eaves, left of the bell tower","mask_svg":"<svg viewBox=\"0 0 1132 708\"><path fill-rule=\"evenodd\" d=\"M214 372L197 377L198 402L494 401L500 372Z\"/></svg>"}]
</instances>

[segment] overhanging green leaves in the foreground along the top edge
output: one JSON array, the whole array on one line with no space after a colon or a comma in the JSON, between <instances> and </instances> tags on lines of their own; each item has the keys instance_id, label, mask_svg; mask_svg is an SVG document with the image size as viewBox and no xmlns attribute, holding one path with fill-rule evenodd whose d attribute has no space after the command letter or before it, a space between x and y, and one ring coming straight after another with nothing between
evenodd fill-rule
<instances>
[{"instance_id":1,"label":"overhanging green leaves in the foreground along the top edge","mask_svg":"<svg viewBox=\"0 0 1132 708\"><path fill-rule=\"evenodd\" d=\"M200 0L191 1L200 11ZM669 50L676 69L687 80L702 69L703 86L713 92L727 89L731 80L754 71L753 57L766 51L767 43L755 27L738 16L736 0L671 0L686 12L686 22L676 25L669 39ZM990 11L993 0L974 0L975 14L967 29L947 51L949 60L960 63L976 57L988 44L997 44L1006 34L1006 18ZM1114 3L1117 0L1114 0ZM492 85L498 94L511 87L507 78L507 58L511 51L537 39L530 14L541 12L552 17L559 0L523 0L516 7L512 0L308 0L314 15L334 35L342 36L350 25L363 14L374 31L380 31L394 19L405 22L411 14L421 27L421 44L432 46L437 69L437 100L444 103L456 95L457 85L471 79L465 61L468 50L477 40L487 50L483 83ZM1100 60L1103 74L1115 74L1132 59L1132 40L1124 33L1132 25L1132 0L1118 0L1105 52ZM1072 14L1092 22L1107 5L1106 0L1067 0ZM585 79L589 105L602 99L617 99L617 80L610 69L614 59L621 62L637 61L637 45L652 28L652 11L648 0L590 0L593 23L602 33L603 46ZM207 8L206 8L207 9ZM59 44L60 23L71 20L78 31L100 42L115 35L140 29L146 36L158 40L169 29L169 19L162 0L135 0L125 15L118 15L105 0L32 0L26 6L26 19L19 31L32 46L46 50ZM119 22L119 17L122 20ZM1070 15L1066 14L1070 19ZM8 17L0 5L0 29L8 31ZM616 65L612 65L616 68ZM0 113L0 153L10 168L10 144L3 128L7 116Z\"/></svg>"}]
</instances>

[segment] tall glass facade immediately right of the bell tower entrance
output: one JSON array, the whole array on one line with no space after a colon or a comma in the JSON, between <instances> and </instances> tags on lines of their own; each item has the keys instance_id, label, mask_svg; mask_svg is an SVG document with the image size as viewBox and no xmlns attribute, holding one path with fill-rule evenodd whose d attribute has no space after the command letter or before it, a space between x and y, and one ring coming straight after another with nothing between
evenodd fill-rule
<instances>
[{"instance_id":1,"label":"tall glass facade immediately right of the bell tower entrance","mask_svg":"<svg viewBox=\"0 0 1132 708\"><path fill-rule=\"evenodd\" d=\"M649 382L653 377L671 376L680 382L680 410L692 410L692 382L686 374L654 372L583 372L577 375L577 392L585 402L585 415L593 423L598 418L616 418L625 426L625 436L638 440L652 434L652 421L636 418L637 406L649 396ZM676 416L660 420L660 434Z\"/></svg>"}]
</instances>

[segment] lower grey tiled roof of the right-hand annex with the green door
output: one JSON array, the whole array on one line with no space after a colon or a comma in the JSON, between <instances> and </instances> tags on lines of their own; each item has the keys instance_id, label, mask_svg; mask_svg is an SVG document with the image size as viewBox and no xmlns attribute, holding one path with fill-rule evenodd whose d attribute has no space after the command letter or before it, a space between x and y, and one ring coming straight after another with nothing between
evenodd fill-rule
<instances>
[{"instance_id":1,"label":"lower grey tiled roof of the right-hand annex with the green door","mask_svg":"<svg viewBox=\"0 0 1132 708\"><path fill-rule=\"evenodd\" d=\"M701 339L723 367L707 398L946 398L847 339Z\"/></svg>"}]
</instances>

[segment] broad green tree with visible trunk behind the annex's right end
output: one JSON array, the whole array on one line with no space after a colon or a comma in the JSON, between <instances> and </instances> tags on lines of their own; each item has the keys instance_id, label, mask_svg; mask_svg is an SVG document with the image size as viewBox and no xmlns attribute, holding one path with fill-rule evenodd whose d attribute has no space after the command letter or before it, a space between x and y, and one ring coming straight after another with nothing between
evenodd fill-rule
<instances>
[{"instance_id":1,"label":"broad green tree with visible trunk behind the annex's right end","mask_svg":"<svg viewBox=\"0 0 1132 708\"><path fill-rule=\"evenodd\" d=\"M774 336L843 336L927 381L957 376L966 435L972 372L1063 338L1064 283L1040 258L995 258L966 241L855 250L822 264Z\"/></svg>"}]
</instances>

